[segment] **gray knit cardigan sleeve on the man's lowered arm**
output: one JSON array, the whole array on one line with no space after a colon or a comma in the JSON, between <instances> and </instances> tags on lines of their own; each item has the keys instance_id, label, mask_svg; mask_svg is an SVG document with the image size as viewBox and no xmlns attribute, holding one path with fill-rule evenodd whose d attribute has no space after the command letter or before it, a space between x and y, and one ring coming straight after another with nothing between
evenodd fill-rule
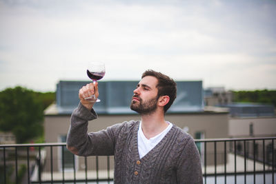
<instances>
[{"instance_id":1,"label":"gray knit cardigan sleeve on the man's lowered arm","mask_svg":"<svg viewBox=\"0 0 276 184\"><path fill-rule=\"evenodd\" d=\"M181 156L177 163L177 183L203 183L200 156L192 137L188 139L188 143L181 150Z\"/></svg>"}]
</instances>

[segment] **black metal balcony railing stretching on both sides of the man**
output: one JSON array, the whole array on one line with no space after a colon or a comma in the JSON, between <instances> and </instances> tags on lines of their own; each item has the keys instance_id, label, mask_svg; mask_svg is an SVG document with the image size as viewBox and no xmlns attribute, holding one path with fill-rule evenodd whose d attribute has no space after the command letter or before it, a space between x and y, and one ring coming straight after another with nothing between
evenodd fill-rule
<instances>
[{"instance_id":1,"label":"black metal balcony railing stretching on both sides of the man","mask_svg":"<svg viewBox=\"0 0 276 184\"><path fill-rule=\"evenodd\" d=\"M195 140L204 183L275 183L276 137ZM113 183L113 156L75 156L66 143L0 145L0 183Z\"/></svg>"}]
</instances>

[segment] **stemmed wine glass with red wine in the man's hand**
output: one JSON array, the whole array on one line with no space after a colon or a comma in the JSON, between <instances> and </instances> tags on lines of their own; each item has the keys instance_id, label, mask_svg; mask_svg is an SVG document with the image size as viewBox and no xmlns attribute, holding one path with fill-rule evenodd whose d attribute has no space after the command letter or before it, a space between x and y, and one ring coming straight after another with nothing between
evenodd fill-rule
<instances>
[{"instance_id":1,"label":"stemmed wine glass with red wine in the man's hand","mask_svg":"<svg viewBox=\"0 0 276 184\"><path fill-rule=\"evenodd\" d=\"M99 80L102 79L104 74L106 74L106 68L104 63L101 62L92 62L88 65L86 73L90 79L92 79L94 85ZM95 94L92 94L90 97L85 98L87 101L99 102L100 99L96 99Z\"/></svg>"}]
</instances>

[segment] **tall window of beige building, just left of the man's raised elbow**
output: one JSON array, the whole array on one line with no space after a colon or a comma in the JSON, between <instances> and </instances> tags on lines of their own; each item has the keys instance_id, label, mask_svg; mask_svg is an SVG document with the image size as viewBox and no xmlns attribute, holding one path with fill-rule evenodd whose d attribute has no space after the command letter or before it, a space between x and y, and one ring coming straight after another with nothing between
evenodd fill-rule
<instances>
[{"instance_id":1,"label":"tall window of beige building, just left of the man's raised elbow","mask_svg":"<svg viewBox=\"0 0 276 184\"><path fill-rule=\"evenodd\" d=\"M66 143L66 135L59 136L60 143ZM67 150L66 146L59 147L58 150L59 155L59 171L72 171L74 170L74 161L75 161L75 170L77 170L78 159L77 156L72 154L69 150ZM62 163L64 161L64 163Z\"/></svg>"}]
</instances>

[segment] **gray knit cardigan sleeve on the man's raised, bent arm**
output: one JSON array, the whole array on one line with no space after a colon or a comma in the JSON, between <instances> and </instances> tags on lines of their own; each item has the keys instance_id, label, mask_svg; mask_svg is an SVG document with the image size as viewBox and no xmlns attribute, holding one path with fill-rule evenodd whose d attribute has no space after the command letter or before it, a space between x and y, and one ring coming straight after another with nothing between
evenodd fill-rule
<instances>
[{"instance_id":1,"label":"gray knit cardigan sleeve on the man's raised, bent arm","mask_svg":"<svg viewBox=\"0 0 276 184\"><path fill-rule=\"evenodd\" d=\"M79 156L113 155L117 132L124 123L112 125L106 130L88 133L88 121L97 119L94 110L87 110L81 103L72 112L67 145L76 147Z\"/></svg>"}]
</instances>

